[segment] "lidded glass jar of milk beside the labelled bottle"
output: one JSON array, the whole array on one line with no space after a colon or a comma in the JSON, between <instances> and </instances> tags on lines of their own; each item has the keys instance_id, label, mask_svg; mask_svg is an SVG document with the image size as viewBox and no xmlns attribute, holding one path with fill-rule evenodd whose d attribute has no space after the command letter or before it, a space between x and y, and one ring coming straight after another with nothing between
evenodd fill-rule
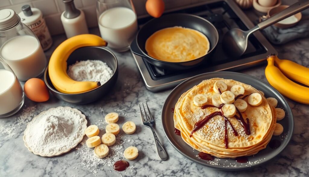
<instances>
[{"instance_id":1,"label":"lidded glass jar of milk beside the labelled bottle","mask_svg":"<svg viewBox=\"0 0 309 177\"><path fill-rule=\"evenodd\" d=\"M20 81L39 77L47 64L38 38L11 9L0 10L0 56Z\"/></svg>"}]
</instances>

